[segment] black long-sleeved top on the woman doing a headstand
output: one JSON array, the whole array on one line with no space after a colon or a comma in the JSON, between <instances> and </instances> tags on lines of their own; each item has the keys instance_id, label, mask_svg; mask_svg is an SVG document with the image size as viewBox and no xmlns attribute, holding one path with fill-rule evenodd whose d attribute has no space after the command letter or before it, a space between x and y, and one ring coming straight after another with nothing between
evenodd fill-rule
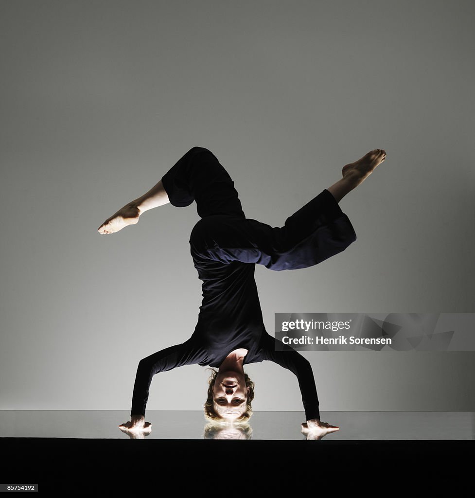
<instances>
[{"instance_id":1,"label":"black long-sleeved top on the woman doing a headstand","mask_svg":"<svg viewBox=\"0 0 475 498\"><path fill-rule=\"evenodd\" d=\"M248 350L244 365L269 360L294 373L302 393L306 419L320 418L310 363L296 351L275 351L279 349L275 343L280 341L265 330L253 276L255 265L240 262L231 265L233 271L228 275L224 292L213 293L213 282L203 282L203 287L208 288L203 293L193 335L183 344L166 348L140 361L131 415L145 414L149 385L155 373L193 364L219 368L232 351L244 348ZM217 306L225 309L216 313Z\"/></svg>"}]
</instances>

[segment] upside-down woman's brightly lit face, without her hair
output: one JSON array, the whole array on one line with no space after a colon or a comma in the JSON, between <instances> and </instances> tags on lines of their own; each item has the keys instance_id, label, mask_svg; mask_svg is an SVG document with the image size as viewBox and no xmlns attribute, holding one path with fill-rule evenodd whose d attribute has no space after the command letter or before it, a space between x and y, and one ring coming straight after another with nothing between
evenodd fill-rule
<instances>
[{"instance_id":1,"label":"upside-down woman's brightly lit face, without her hair","mask_svg":"<svg viewBox=\"0 0 475 498\"><path fill-rule=\"evenodd\" d=\"M216 413L222 418L237 419L246 411L248 392L242 373L218 372L213 388Z\"/></svg>"}]
</instances>

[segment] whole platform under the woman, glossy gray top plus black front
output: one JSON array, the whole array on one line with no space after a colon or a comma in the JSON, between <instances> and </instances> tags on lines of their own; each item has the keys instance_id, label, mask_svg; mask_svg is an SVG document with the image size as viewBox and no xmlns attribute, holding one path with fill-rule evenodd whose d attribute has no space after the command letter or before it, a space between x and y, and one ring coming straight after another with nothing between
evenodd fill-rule
<instances>
[{"instance_id":1,"label":"whole platform under the woman, glossy gray top plus black front","mask_svg":"<svg viewBox=\"0 0 475 498\"><path fill-rule=\"evenodd\" d=\"M201 412L147 412L152 433L138 441L120 432L127 419L117 411L0 412L0 483L38 484L45 496L307 496L324 487L458 496L469 492L475 462L469 412L325 412L322 420L341 430L319 441L301 434L299 412L257 412L249 427L224 434Z\"/></svg>"}]
</instances>

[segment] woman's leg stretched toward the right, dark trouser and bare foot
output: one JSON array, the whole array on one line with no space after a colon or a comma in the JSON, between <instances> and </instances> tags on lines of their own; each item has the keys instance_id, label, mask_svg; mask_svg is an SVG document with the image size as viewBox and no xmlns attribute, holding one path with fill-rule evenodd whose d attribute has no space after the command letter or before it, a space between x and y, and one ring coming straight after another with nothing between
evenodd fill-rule
<instances>
[{"instance_id":1,"label":"woman's leg stretched toward the right, dark trouser and bare foot","mask_svg":"<svg viewBox=\"0 0 475 498\"><path fill-rule=\"evenodd\" d=\"M224 263L257 263L280 271L314 266L356 241L338 201L385 159L382 149L343 168L343 178L287 218L283 227L245 218L211 216L192 231L192 253Z\"/></svg>"}]
</instances>

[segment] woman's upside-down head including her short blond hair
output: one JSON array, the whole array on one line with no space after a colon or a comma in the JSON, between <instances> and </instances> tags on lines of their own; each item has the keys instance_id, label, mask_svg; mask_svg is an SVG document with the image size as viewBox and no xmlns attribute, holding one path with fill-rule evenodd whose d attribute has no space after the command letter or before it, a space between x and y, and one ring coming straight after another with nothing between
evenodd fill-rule
<instances>
[{"instance_id":1,"label":"woman's upside-down head including her short blond hair","mask_svg":"<svg viewBox=\"0 0 475 498\"><path fill-rule=\"evenodd\" d=\"M248 420L252 415L254 382L247 373L211 370L205 418L208 420Z\"/></svg>"}]
</instances>

